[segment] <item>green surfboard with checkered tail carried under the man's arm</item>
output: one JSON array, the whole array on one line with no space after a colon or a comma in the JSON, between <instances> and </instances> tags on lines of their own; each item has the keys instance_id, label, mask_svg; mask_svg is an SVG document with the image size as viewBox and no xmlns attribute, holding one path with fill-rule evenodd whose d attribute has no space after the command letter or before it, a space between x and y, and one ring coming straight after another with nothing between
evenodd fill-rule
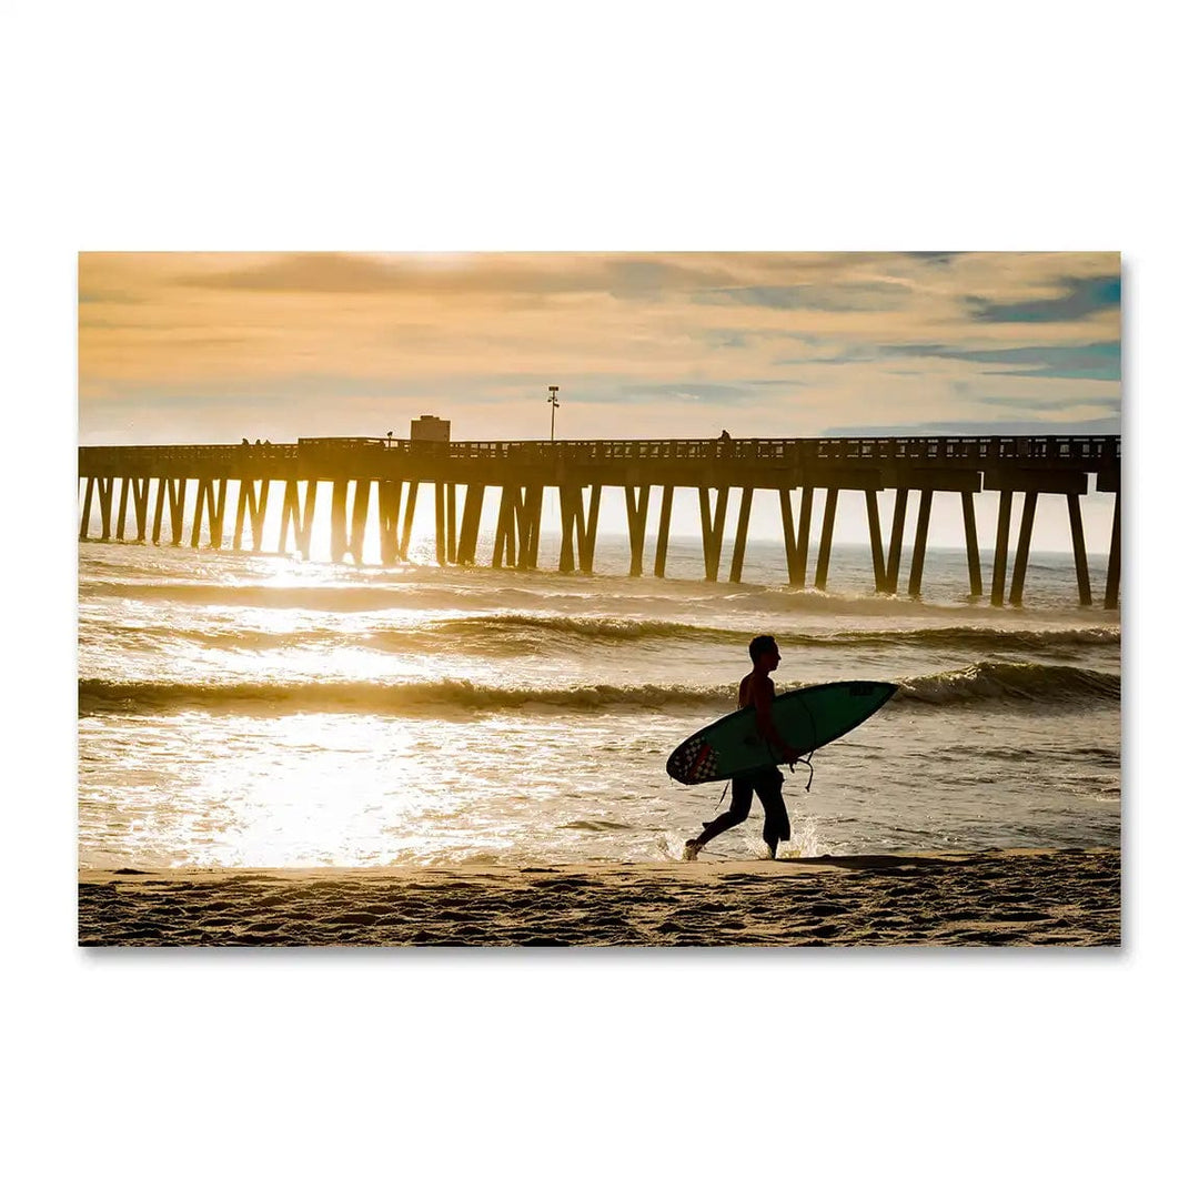
<instances>
[{"instance_id":1,"label":"green surfboard with checkered tail carried under the man's arm","mask_svg":"<svg viewBox=\"0 0 1199 1199\"><path fill-rule=\"evenodd\" d=\"M821 682L775 697L771 712L784 740L805 758L869 719L897 691L893 682ZM667 759L680 783L712 783L778 764L778 751L758 731L752 707L693 733Z\"/></svg>"}]
</instances>

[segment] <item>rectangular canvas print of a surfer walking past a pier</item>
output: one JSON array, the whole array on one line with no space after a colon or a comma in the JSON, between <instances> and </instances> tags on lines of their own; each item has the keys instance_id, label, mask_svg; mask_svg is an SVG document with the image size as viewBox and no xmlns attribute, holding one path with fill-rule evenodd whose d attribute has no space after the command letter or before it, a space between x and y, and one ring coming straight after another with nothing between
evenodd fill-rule
<instances>
[{"instance_id":1,"label":"rectangular canvas print of a surfer walking past a pier","mask_svg":"<svg viewBox=\"0 0 1199 1199\"><path fill-rule=\"evenodd\" d=\"M1116 946L1121 264L79 255L78 940Z\"/></svg>"}]
</instances>

